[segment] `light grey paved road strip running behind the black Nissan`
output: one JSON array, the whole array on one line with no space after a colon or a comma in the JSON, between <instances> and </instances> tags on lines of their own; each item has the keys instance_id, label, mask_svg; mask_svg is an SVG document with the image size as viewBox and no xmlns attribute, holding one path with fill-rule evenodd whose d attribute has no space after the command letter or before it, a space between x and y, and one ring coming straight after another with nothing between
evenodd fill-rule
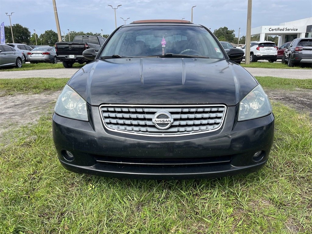
<instances>
[{"instance_id":1,"label":"light grey paved road strip running behind the black Nissan","mask_svg":"<svg viewBox=\"0 0 312 234\"><path fill-rule=\"evenodd\" d=\"M253 76L273 76L290 79L312 79L312 70L309 69L273 69L273 68L245 68ZM31 71L1 71L0 79L5 78L30 78L30 77L55 77L70 78L78 68L59 68Z\"/></svg>"}]
</instances>

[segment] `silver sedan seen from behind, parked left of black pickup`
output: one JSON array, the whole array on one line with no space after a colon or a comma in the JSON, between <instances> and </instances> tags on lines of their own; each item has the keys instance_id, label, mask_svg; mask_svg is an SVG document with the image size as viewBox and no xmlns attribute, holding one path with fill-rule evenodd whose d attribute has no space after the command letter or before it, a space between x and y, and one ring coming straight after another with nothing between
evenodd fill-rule
<instances>
[{"instance_id":1,"label":"silver sedan seen from behind, parked left of black pickup","mask_svg":"<svg viewBox=\"0 0 312 234\"><path fill-rule=\"evenodd\" d=\"M56 52L53 46L38 46L27 53L30 63L51 62L57 63Z\"/></svg>"}]
</instances>

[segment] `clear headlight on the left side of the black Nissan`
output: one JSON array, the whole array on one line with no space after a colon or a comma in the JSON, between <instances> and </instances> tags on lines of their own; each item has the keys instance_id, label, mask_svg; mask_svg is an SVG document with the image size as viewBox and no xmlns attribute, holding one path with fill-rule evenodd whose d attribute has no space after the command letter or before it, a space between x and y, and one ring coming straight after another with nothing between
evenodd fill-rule
<instances>
[{"instance_id":1,"label":"clear headlight on the left side of the black Nissan","mask_svg":"<svg viewBox=\"0 0 312 234\"><path fill-rule=\"evenodd\" d=\"M65 85L55 105L58 115L88 121L87 103L69 85Z\"/></svg>"}]
</instances>

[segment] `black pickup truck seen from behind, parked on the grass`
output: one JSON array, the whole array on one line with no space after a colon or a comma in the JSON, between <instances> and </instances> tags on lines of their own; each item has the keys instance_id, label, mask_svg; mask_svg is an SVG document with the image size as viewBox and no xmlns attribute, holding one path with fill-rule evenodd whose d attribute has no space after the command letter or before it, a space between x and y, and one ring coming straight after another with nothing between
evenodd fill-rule
<instances>
[{"instance_id":1,"label":"black pickup truck seen from behind, parked on the grass","mask_svg":"<svg viewBox=\"0 0 312 234\"><path fill-rule=\"evenodd\" d=\"M73 41L62 41L55 43L56 56L58 60L63 62L63 66L70 68L73 63L83 64L89 62L82 56L82 52L86 49L93 48L99 50L104 44L106 38L100 36L75 36Z\"/></svg>"}]
</instances>

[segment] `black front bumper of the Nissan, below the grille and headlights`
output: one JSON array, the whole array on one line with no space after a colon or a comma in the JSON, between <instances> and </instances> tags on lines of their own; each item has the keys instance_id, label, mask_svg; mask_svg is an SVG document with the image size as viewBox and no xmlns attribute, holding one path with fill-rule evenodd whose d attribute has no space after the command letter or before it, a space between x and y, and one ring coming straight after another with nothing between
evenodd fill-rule
<instances>
[{"instance_id":1,"label":"black front bumper of the Nissan, below the grille and headlights","mask_svg":"<svg viewBox=\"0 0 312 234\"><path fill-rule=\"evenodd\" d=\"M251 173L262 168L274 138L274 116L235 121L228 107L222 129L178 137L121 134L104 129L98 107L91 121L54 113L53 139L61 164L76 173L116 178L197 179ZM233 125L234 123L234 125ZM72 162L64 157L74 155ZM261 155L253 160L253 155Z\"/></svg>"}]
</instances>

